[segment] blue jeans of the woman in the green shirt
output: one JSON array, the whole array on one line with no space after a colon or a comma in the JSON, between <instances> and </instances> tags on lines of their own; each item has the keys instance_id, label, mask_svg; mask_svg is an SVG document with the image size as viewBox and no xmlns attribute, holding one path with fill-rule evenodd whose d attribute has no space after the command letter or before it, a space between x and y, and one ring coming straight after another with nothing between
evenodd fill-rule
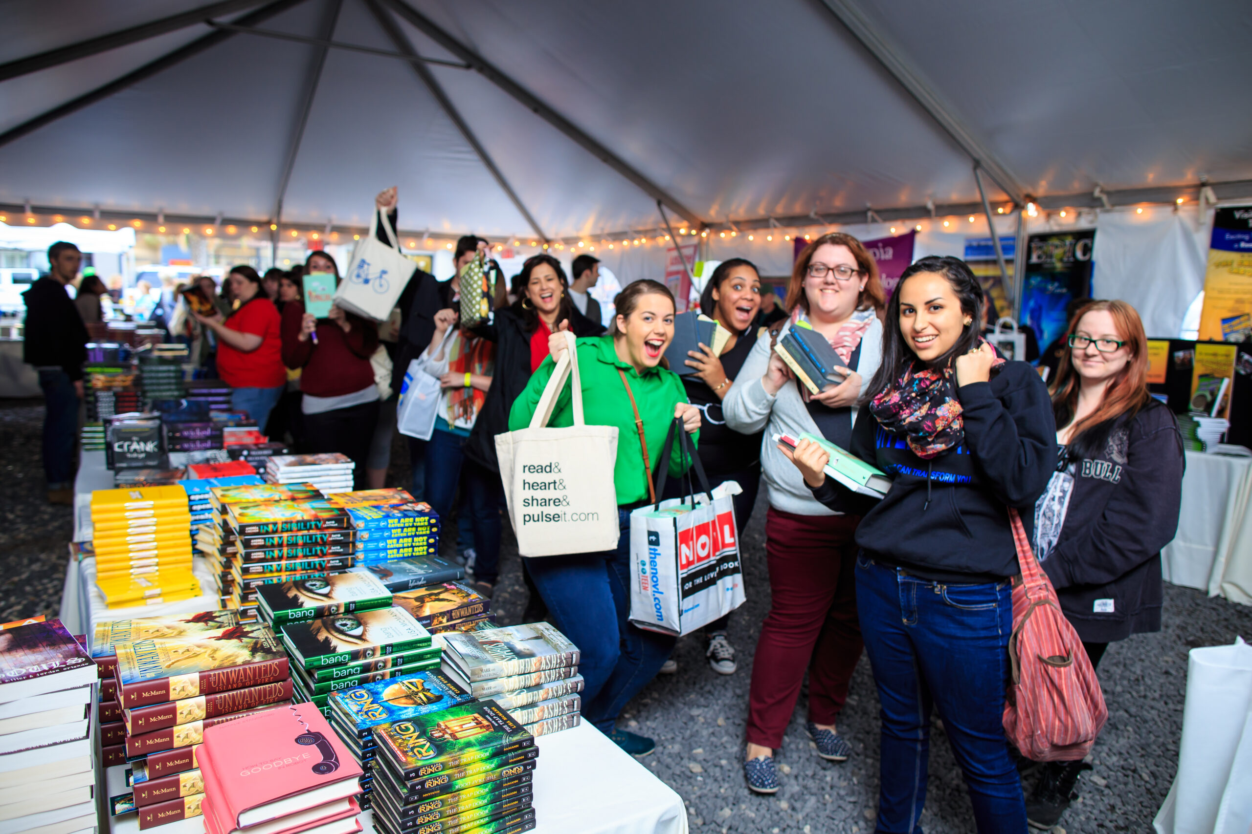
<instances>
[{"instance_id":1,"label":"blue jeans of the woman in the green shirt","mask_svg":"<svg viewBox=\"0 0 1252 834\"><path fill-rule=\"evenodd\" d=\"M661 670L675 638L630 624L630 510L616 550L526 560L556 626L582 653L582 716L605 734Z\"/></svg>"}]
</instances>

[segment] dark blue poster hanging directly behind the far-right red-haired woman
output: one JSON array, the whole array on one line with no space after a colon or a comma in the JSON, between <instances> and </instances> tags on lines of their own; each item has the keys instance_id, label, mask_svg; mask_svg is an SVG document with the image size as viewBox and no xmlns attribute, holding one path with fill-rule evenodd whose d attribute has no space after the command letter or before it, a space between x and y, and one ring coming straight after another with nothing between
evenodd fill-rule
<instances>
[{"instance_id":1,"label":"dark blue poster hanging directly behind the far-right red-haired woman","mask_svg":"<svg viewBox=\"0 0 1252 834\"><path fill-rule=\"evenodd\" d=\"M1030 235L1022 288L1022 324L1034 329L1040 345L1064 335L1070 299L1090 298L1096 230Z\"/></svg>"}]
</instances>

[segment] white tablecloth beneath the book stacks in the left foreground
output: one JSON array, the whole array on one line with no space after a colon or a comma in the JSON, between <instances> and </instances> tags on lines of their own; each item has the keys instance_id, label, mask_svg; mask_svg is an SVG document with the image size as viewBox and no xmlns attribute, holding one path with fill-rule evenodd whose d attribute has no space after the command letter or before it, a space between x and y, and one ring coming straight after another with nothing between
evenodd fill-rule
<instances>
[{"instance_id":1,"label":"white tablecloth beneath the book stacks in the left foreground","mask_svg":"<svg viewBox=\"0 0 1252 834\"><path fill-rule=\"evenodd\" d=\"M687 834L682 798L590 724L542 735L535 768L535 834ZM125 765L108 769L108 793L129 793ZM361 815L373 834L372 814ZM160 834L204 834L200 816L160 826ZM136 834L139 818L109 820L109 834Z\"/></svg>"}]
</instances>

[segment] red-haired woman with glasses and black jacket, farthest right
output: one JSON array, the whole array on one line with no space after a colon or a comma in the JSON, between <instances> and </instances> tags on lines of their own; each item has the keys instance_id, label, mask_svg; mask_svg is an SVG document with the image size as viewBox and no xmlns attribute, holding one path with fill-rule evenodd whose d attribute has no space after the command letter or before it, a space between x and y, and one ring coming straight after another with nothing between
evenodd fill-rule
<instances>
[{"instance_id":1,"label":"red-haired woman with glasses and black jacket, farthest right","mask_svg":"<svg viewBox=\"0 0 1252 834\"><path fill-rule=\"evenodd\" d=\"M1113 640L1161 630L1161 548L1178 528L1182 436L1148 394L1148 343L1126 301L1070 321L1052 393L1060 456L1035 504L1034 549L1092 665ZM1055 761L1027 801L1037 828L1069 805L1090 765Z\"/></svg>"}]
</instances>

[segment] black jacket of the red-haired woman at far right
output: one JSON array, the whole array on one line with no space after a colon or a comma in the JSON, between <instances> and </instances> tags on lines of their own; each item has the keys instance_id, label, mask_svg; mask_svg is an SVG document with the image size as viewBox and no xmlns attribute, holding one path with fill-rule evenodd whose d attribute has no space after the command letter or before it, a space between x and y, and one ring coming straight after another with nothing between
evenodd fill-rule
<instances>
[{"instance_id":1,"label":"black jacket of the red-haired woman at far right","mask_svg":"<svg viewBox=\"0 0 1252 834\"><path fill-rule=\"evenodd\" d=\"M1060 536L1043 570L1087 643L1161 630L1161 549L1178 530L1182 435L1151 400L1117 425L1103 451L1073 461Z\"/></svg>"}]
</instances>

